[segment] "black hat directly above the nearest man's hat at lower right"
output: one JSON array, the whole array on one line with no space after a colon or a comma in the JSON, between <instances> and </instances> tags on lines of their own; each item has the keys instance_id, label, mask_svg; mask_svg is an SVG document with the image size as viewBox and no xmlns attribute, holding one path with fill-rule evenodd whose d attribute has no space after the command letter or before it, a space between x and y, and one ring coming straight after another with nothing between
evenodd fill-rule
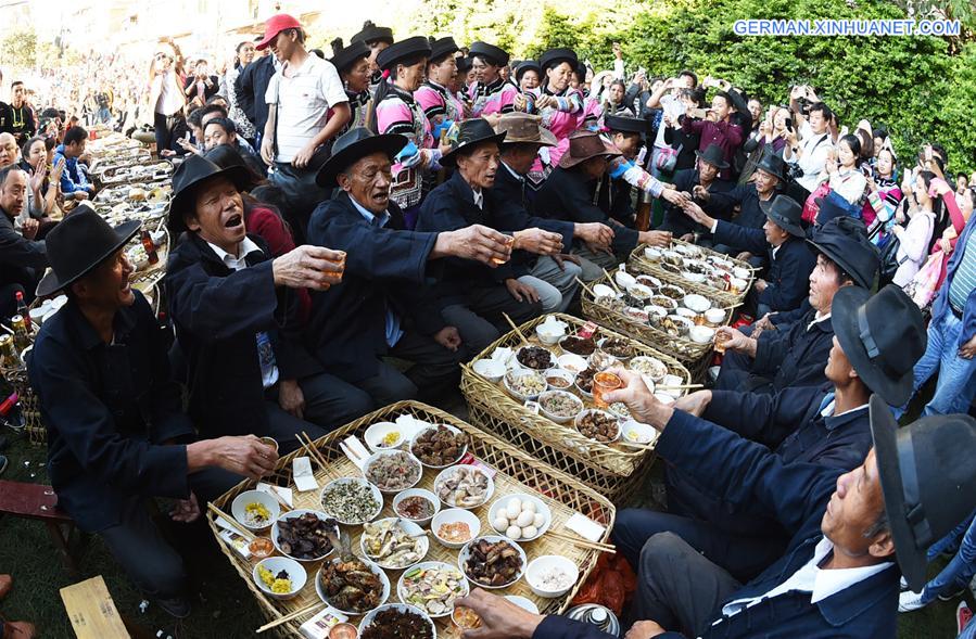
<instances>
[{"instance_id":1,"label":"black hat directly above the nearest man's hat at lower right","mask_svg":"<svg viewBox=\"0 0 976 639\"><path fill-rule=\"evenodd\" d=\"M831 324L844 355L861 381L891 406L912 396L912 371L928 336L922 311L900 287L888 284L872 295L841 286L831 304Z\"/></svg>"}]
</instances>

